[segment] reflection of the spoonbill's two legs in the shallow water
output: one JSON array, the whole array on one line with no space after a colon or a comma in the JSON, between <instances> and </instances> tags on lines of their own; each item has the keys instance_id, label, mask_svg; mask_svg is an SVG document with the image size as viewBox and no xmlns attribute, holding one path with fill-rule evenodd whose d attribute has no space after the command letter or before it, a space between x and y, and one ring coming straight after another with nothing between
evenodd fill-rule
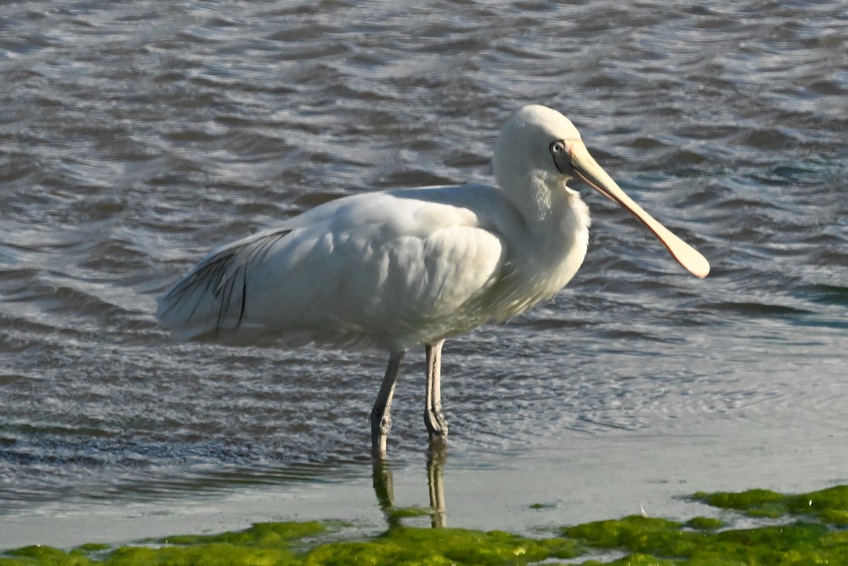
<instances>
[{"instance_id":1,"label":"reflection of the spoonbill's two legs in the shallow water","mask_svg":"<svg viewBox=\"0 0 848 566\"><path fill-rule=\"evenodd\" d=\"M432 528L447 526L444 511L444 462L447 457L447 444L442 438L430 441L427 452L427 486L430 489L430 508L427 514L431 517ZM374 458L374 493L377 503L386 517L389 529L401 526L401 519L410 516L415 509L398 509L394 507L394 485L391 463L385 458Z\"/></svg>"}]
</instances>

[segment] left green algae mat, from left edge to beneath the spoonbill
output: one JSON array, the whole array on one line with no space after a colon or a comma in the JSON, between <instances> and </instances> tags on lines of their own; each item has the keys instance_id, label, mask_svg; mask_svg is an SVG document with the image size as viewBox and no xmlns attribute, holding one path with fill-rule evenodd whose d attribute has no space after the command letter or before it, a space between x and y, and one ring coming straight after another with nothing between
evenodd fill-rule
<instances>
[{"instance_id":1,"label":"left green algae mat, from left edge to beneath the spoonbill","mask_svg":"<svg viewBox=\"0 0 848 566\"><path fill-rule=\"evenodd\" d=\"M299 538L323 532L323 526L315 523L258 524L236 533L157 541L160 545L167 541L168 546L120 547L98 559L81 549L25 547L0 557L0 566L497 566L579 555L574 541L562 538L536 540L501 531L403 526L367 541L332 541L302 552L293 550Z\"/></svg>"}]
</instances>

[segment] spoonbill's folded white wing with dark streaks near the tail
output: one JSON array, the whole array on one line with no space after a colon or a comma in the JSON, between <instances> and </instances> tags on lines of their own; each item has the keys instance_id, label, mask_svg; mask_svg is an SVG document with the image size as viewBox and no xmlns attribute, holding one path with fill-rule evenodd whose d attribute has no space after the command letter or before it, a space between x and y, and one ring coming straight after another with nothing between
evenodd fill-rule
<instances>
[{"instance_id":1,"label":"spoonbill's folded white wing with dark streaks near the tail","mask_svg":"<svg viewBox=\"0 0 848 566\"><path fill-rule=\"evenodd\" d=\"M479 325L464 305L502 275L502 207L480 187L346 197L212 252L160 300L184 338L300 336L410 347ZM487 204L488 203L488 204Z\"/></svg>"}]
</instances>

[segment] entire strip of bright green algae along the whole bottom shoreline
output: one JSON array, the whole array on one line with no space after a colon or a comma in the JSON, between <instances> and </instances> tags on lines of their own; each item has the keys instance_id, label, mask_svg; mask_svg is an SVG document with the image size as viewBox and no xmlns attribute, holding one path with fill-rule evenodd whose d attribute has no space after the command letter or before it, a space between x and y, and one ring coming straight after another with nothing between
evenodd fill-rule
<instances>
[{"instance_id":1,"label":"entire strip of bright green algae along the whole bottom shoreline","mask_svg":"<svg viewBox=\"0 0 848 566\"><path fill-rule=\"evenodd\" d=\"M697 492L720 518L686 522L628 516L513 535L499 530L404 524L427 510L385 508L389 527L364 535L355 524L254 524L220 535L176 535L122 547L45 545L0 554L0 566L147 564L848 564L848 486L785 495L767 490ZM705 507L706 508L706 507ZM714 513L713 513L714 514ZM761 524L739 528L756 518ZM745 520L743 520L745 519Z\"/></svg>"}]
</instances>

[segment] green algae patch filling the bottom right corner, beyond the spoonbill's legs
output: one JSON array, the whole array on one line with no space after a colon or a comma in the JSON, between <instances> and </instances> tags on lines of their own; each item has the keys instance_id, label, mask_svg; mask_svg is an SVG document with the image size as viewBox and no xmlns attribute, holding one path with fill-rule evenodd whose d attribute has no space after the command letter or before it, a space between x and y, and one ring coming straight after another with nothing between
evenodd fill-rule
<instances>
[{"instance_id":1,"label":"green algae patch filling the bottom right corner, beyond the spoonbill's legs","mask_svg":"<svg viewBox=\"0 0 848 566\"><path fill-rule=\"evenodd\" d=\"M721 530L719 519L696 517L681 524L632 516L580 524L562 532L589 547L629 552L611 562L616 565L848 564L848 530L844 530L848 486L797 495L767 490L698 492L692 499L749 516L792 522Z\"/></svg>"}]
</instances>

